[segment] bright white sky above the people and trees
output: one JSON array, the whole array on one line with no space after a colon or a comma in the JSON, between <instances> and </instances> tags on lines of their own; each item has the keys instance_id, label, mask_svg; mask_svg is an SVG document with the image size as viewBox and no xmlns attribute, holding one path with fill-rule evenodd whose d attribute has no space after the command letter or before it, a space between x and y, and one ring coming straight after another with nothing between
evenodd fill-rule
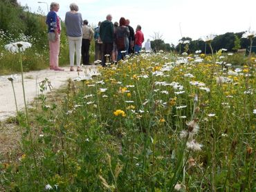
<instances>
[{"instance_id":1,"label":"bright white sky above the people and trees","mask_svg":"<svg viewBox=\"0 0 256 192\"><path fill-rule=\"evenodd\" d=\"M52 1L17 0L21 6L28 6L30 12L43 15L47 13L47 4ZM243 32L250 28L256 30L255 0L76 0L58 1L57 13L62 20L69 11L70 3L77 3L82 18L91 26L104 21L111 14L112 21L120 17L130 20L130 26L142 27L145 41L153 40L157 34L168 44L178 44L182 37L193 40L209 34L221 35L226 32ZM47 4L46 4L47 3Z\"/></svg>"}]
</instances>

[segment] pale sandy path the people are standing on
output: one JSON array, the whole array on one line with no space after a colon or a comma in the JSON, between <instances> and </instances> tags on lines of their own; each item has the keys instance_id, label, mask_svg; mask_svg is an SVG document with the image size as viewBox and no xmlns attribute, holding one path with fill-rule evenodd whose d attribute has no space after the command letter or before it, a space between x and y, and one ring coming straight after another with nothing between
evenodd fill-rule
<instances>
[{"instance_id":1,"label":"pale sandy path the people are standing on","mask_svg":"<svg viewBox=\"0 0 256 192\"><path fill-rule=\"evenodd\" d=\"M36 97L36 83L43 81L45 78L51 81L53 89L57 89L64 85L68 78L73 79L89 73L95 73L96 70L97 66L84 66L83 72L80 73L71 72L68 67L65 67L64 71L38 70L24 73L26 100L28 103L33 101ZM8 80L8 77L10 77L10 75L0 76L0 122L16 114L15 97L12 90L12 84ZM17 75L17 79L13 82L17 97L17 106L20 111L24 108L21 75Z\"/></svg>"}]
</instances>

